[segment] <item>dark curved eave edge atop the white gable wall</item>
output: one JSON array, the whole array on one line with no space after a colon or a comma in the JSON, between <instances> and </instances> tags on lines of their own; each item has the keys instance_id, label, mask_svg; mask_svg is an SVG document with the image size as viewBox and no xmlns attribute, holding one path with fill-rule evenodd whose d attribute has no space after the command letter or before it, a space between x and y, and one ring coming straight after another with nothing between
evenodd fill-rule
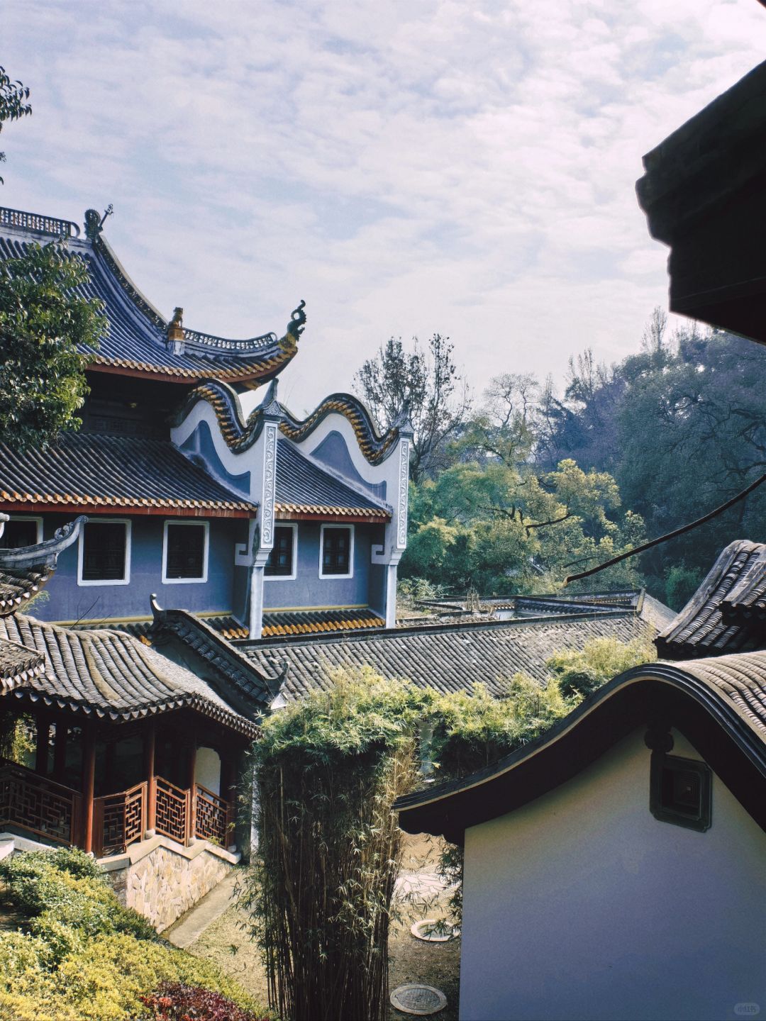
<instances>
[{"instance_id":1,"label":"dark curved eave edge atop the white gable wall","mask_svg":"<svg viewBox=\"0 0 766 1021\"><path fill-rule=\"evenodd\" d=\"M468 827L514 812L566 783L644 725L682 733L766 830L763 736L724 695L669 664L621 674L495 766L399 798L394 805L399 826L462 843Z\"/></svg>"}]
</instances>

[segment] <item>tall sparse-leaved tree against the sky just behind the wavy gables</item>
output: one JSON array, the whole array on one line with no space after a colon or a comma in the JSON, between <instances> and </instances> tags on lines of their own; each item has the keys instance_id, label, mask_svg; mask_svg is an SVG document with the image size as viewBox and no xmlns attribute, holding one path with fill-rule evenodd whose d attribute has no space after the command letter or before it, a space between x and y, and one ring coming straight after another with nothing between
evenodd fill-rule
<instances>
[{"instance_id":1,"label":"tall sparse-leaved tree against the sky just behind the wavy gables","mask_svg":"<svg viewBox=\"0 0 766 1021\"><path fill-rule=\"evenodd\" d=\"M471 396L448 337L435 333L425 347L417 337L413 342L413 350L406 351L400 337L391 337L353 381L382 431L402 414L410 416L410 478L419 482L448 463L447 444L465 425Z\"/></svg>"}]
</instances>

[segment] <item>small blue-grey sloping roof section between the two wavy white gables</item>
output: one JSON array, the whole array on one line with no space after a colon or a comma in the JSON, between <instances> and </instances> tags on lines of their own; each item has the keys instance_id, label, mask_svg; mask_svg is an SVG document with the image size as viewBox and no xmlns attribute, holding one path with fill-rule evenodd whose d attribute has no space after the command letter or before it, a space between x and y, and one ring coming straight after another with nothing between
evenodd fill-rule
<instances>
[{"instance_id":1,"label":"small blue-grey sloping roof section between the two wavy white gables","mask_svg":"<svg viewBox=\"0 0 766 1021\"><path fill-rule=\"evenodd\" d=\"M351 488L308 460L287 441L277 446L275 510L283 519L316 516L387 521L391 517L390 508L385 503L369 493Z\"/></svg>"}]
</instances>

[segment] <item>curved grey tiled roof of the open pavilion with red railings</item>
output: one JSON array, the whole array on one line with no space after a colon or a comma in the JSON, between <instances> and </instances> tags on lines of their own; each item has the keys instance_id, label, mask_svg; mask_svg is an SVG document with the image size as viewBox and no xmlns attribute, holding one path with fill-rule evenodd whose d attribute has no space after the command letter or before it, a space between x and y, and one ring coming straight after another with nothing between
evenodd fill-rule
<instances>
[{"instance_id":1,"label":"curved grey tiled roof of the open pavilion with red railings","mask_svg":"<svg viewBox=\"0 0 766 1021\"><path fill-rule=\"evenodd\" d=\"M247 736L257 732L202 678L123 632L75 631L16 614L0 619L0 642L44 660L44 672L12 687L19 698L113 721L188 708Z\"/></svg>"}]
</instances>

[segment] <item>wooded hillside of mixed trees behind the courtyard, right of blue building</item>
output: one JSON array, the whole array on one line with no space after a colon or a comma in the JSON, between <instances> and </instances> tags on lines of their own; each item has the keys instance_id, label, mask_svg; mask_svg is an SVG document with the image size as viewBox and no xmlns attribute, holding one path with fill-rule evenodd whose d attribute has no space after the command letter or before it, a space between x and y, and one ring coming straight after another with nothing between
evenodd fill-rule
<instances>
[{"instance_id":1,"label":"wooded hillside of mixed trees behind the courtyard, right of blue building","mask_svg":"<svg viewBox=\"0 0 766 1021\"><path fill-rule=\"evenodd\" d=\"M766 472L766 351L657 308L639 349L613 366L590 350L550 379L507 373L479 398L448 338L391 338L354 384L381 429L409 412L405 591L488 597L550 592L567 575L665 535ZM733 539L760 540L766 486L677 539L574 582L645 586L680 609Z\"/></svg>"}]
</instances>

